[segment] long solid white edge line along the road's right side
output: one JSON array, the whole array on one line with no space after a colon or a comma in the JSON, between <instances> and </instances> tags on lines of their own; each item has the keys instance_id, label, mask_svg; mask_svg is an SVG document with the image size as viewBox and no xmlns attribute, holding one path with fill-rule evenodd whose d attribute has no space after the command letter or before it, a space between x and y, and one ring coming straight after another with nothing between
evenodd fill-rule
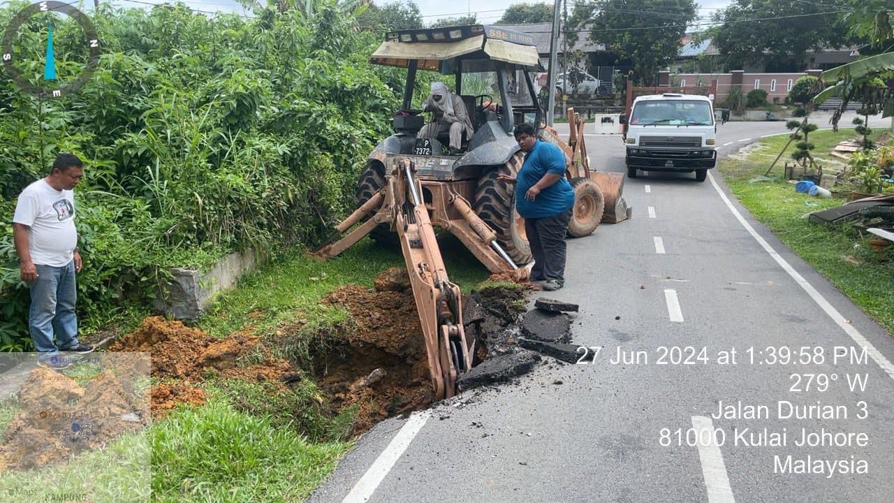
<instances>
[{"instance_id":1,"label":"long solid white edge line along the road's right side","mask_svg":"<svg viewBox=\"0 0 894 503\"><path fill-rule=\"evenodd\" d=\"M720 185L718 185L717 182L714 180L714 177L713 175L711 175L710 171L708 172L708 178L711 179L711 184L714 186L714 190L716 190L717 193L721 195L721 199L724 203L726 203L727 208L730 209L738 222L742 224L743 227L745 227L745 230L748 231L748 234L751 234L751 237L755 238L755 241L757 243L760 243L761 247L763 247L763 251L769 253L773 260L776 260L776 263L778 263L782 269L789 273L789 276L795 280L798 286L801 286L801 288L803 288L804 291L808 295L810 295L810 298L814 300L814 303L819 305L822 308L822 311L825 311L826 314L829 315L829 318L831 318L832 321L834 321L835 324L839 326L839 328L844 330L845 333L848 334L851 339L853 339L856 345L864 347L866 349L866 353L868 353L873 361L876 362L879 367L881 367L881 370L885 371L885 373L888 374L891 379L894 379L894 364L891 364L891 362L887 358L885 358L884 354L881 354L881 352L879 352L879 350L876 349L875 346L872 345L872 343L866 340L866 337L863 337L863 334L861 334L859 330L854 328L854 326L851 325L844 316L841 316L841 313L837 309L835 309L831 305L831 303L829 303L829 301L827 301L826 298L823 297L822 294L820 294L816 290L816 288L814 288L813 285L808 283L807 280L803 276L801 276L800 273L797 272L797 270L795 270L795 268L791 267L791 264L789 264L788 260L783 259L779 252L776 252L776 250L774 250L773 247L770 246L770 243L767 243L766 240L763 239L761 234L757 234L755 228L746 221L745 217L742 217L742 214L739 213L738 209L736 209L736 207L732 205L732 202L730 202L730 199L726 197L726 194L721 191Z\"/></svg>"}]
</instances>

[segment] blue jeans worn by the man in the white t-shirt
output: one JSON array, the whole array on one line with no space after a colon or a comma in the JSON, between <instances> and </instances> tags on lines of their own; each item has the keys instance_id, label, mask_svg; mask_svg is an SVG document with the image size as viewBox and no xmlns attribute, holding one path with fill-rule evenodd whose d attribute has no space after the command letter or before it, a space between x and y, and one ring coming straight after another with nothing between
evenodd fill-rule
<instances>
[{"instance_id":1,"label":"blue jeans worn by the man in the white t-shirt","mask_svg":"<svg viewBox=\"0 0 894 503\"><path fill-rule=\"evenodd\" d=\"M74 260L61 268L41 266L38 280L31 284L28 326L31 341L40 353L55 352L78 345L78 318L74 303L78 289L74 279ZM53 344L53 335L58 344Z\"/></svg>"}]
</instances>

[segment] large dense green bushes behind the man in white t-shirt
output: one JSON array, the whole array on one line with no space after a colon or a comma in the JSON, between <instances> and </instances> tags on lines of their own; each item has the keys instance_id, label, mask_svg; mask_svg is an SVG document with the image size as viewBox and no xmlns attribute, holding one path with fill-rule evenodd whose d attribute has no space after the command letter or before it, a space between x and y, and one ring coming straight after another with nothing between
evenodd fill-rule
<instances>
[{"instance_id":1,"label":"large dense green bushes behind the man in white t-shirt","mask_svg":"<svg viewBox=\"0 0 894 503\"><path fill-rule=\"evenodd\" d=\"M0 19L17 8L0 8ZM352 209L405 72L368 64L379 40L340 8L324 0L316 17L267 7L246 19L182 4L104 5L92 16L104 51L79 92L41 103L0 80L0 211L11 215L58 153L85 162L75 191L82 326L148 305L159 268L313 246ZM54 35L57 57L78 56L62 50L80 37L74 21L59 21ZM41 60L34 42L21 46L25 60ZM60 80L80 72L57 66ZM28 290L12 241L0 229L0 350L27 350Z\"/></svg>"}]
</instances>

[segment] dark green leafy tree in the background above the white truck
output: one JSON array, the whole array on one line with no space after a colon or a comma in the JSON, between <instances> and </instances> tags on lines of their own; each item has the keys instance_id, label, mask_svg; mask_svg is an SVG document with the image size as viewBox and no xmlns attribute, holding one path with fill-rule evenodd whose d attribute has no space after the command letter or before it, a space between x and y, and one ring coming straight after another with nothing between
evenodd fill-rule
<instances>
[{"instance_id":1,"label":"dark green leafy tree in the background above the white truck","mask_svg":"<svg viewBox=\"0 0 894 503\"><path fill-rule=\"evenodd\" d=\"M568 30L589 26L591 40L633 63L633 81L653 84L695 19L693 0L596 0L577 4Z\"/></svg>"}]
</instances>

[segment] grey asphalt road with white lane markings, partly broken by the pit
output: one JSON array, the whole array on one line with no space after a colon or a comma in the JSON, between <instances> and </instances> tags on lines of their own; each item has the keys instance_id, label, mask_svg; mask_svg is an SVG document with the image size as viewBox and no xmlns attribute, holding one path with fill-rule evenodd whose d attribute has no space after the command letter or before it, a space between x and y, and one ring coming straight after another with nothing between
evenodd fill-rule
<instances>
[{"instance_id":1,"label":"grey asphalt road with white lane markings, partly broken by the pit","mask_svg":"<svg viewBox=\"0 0 894 503\"><path fill-rule=\"evenodd\" d=\"M723 124L720 154L784 131ZM620 137L587 141L598 169L625 171ZM894 500L894 338L756 223L718 173L628 179L624 197L634 217L569 241L566 286L551 295L580 304L574 343L601 348L595 362L542 365L380 423L310 501ZM836 347L848 348L837 362ZM611 363L619 350L639 362ZM849 388L855 375L864 389ZM766 417L721 416L720 402ZM786 417L788 404L818 402L831 412ZM764 431L785 444L760 445ZM802 431L844 445L797 447ZM814 473L791 473L808 456Z\"/></svg>"}]
</instances>

